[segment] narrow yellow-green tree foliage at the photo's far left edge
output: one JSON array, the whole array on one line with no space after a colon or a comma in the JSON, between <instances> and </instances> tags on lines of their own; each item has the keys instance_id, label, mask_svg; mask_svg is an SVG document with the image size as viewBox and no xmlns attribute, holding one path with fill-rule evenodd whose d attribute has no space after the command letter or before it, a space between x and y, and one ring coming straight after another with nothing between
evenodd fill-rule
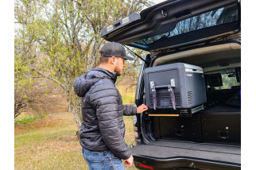
<instances>
[{"instance_id":1,"label":"narrow yellow-green tree foliage at the photo's far left edge","mask_svg":"<svg viewBox=\"0 0 256 170\"><path fill-rule=\"evenodd\" d=\"M16 19L20 15L15 15ZM29 10L25 11L24 15L29 15ZM34 64L37 56L33 38L29 37L30 34L27 33L25 25L19 26L19 30L15 30L14 37L14 118L27 108L28 92L33 84L33 75L29 65Z\"/></svg>"}]
</instances>

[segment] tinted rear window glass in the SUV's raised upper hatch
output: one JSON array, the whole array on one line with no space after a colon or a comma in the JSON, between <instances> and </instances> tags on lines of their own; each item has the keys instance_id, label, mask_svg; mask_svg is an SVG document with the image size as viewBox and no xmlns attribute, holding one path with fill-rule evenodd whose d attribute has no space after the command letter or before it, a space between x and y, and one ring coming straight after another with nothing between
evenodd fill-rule
<instances>
[{"instance_id":1,"label":"tinted rear window glass in the SUV's raised upper hatch","mask_svg":"<svg viewBox=\"0 0 256 170\"><path fill-rule=\"evenodd\" d=\"M212 10L205 14L200 14L195 17L190 17L184 21L180 21L176 24L176 28L157 36L145 38L135 43L138 44L152 44L155 41L159 41L165 38L174 37L183 33L188 33L198 29L204 29L215 25L222 25L234 21L239 21L238 6L232 5L218 10Z\"/></svg>"}]
</instances>

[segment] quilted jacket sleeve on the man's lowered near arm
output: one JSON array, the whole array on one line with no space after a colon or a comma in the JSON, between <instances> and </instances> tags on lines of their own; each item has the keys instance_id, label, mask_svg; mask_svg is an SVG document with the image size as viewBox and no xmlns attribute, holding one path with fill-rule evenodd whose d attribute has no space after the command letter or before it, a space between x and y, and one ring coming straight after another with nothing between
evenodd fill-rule
<instances>
[{"instance_id":1,"label":"quilted jacket sleeve on the man's lowered near arm","mask_svg":"<svg viewBox=\"0 0 256 170\"><path fill-rule=\"evenodd\" d=\"M103 82L95 86L90 100L96 109L103 141L114 155L123 160L128 159L131 153L119 129L119 117L122 115L118 114L118 93L114 85Z\"/></svg>"}]
</instances>

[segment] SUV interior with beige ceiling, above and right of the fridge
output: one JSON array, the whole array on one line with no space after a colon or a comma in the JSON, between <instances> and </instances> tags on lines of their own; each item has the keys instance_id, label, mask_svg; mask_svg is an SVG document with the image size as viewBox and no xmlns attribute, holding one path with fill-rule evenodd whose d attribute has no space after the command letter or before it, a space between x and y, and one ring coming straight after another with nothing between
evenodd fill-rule
<instances>
[{"instance_id":1,"label":"SUV interior with beige ceiling, above and right of the fridge","mask_svg":"<svg viewBox=\"0 0 256 170\"><path fill-rule=\"evenodd\" d=\"M204 104L205 110L214 107L212 110L215 111L240 112L240 100L235 102L232 99L235 98L234 95L239 95L241 92L240 44L218 44L162 56L155 60L153 66L172 63L193 64L204 69L208 99L208 102ZM230 80L227 79L232 79L233 82L230 83Z\"/></svg>"}]
</instances>

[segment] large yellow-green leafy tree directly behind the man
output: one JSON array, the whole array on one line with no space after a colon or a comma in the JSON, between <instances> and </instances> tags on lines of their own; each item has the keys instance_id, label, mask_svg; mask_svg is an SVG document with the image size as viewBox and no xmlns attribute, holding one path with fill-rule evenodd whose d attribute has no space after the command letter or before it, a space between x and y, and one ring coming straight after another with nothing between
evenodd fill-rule
<instances>
[{"instance_id":1,"label":"large yellow-green leafy tree directly behind the man","mask_svg":"<svg viewBox=\"0 0 256 170\"><path fill-rule=\"evenodd\" d=\"M25 33L37 52L36 60L26 67L33 71L32 75L50 79L62 87L72 107L78 133L80 98L72 86L76 77L99 64L99 48L105 43L100 37L101 30L120 17L150 5L152 3L145 0L16 0L17 32ZM138 60L134 60L135 65Z\"/></svg>"}]
</instances>

